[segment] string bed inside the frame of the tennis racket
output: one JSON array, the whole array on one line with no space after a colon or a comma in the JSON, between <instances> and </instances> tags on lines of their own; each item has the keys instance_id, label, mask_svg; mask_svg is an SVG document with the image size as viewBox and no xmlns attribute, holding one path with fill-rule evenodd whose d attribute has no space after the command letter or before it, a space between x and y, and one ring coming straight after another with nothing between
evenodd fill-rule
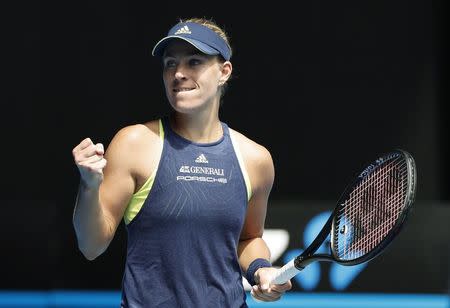
<instances>
[{"instance_id":1,"label":"string bed inside the frame of the tennis racket","mask_svg":"<svg viewBox=\"0 0 450 308\"><path fill-rule=\"evenodd\" d=\"M359 258L386 237L403 210L407 177L406 162L390 160L353 189L336 220L334 247L339 259Z\"/></svg>"}]
</instances>

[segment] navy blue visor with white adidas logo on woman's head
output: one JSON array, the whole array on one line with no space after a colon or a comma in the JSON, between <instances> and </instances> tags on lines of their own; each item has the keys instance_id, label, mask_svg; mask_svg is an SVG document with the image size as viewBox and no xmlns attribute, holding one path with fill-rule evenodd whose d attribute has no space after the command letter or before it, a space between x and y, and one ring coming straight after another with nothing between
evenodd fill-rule
<instances>
[{"instance_id":1,"label":"navy blue visor with white adidas logo on woman's head","mask_svg":"<svg viewBox=\"0 0 450 308\"><path fill-rule=\"evenodd\" d=\"M153 47L152 55L162 56L169 42L174 39L184 40L207 55L221 55L230 60L231 50L219 34L198 23L179 23L172 27L167 36Z\"/></svg>"}]
</instances>

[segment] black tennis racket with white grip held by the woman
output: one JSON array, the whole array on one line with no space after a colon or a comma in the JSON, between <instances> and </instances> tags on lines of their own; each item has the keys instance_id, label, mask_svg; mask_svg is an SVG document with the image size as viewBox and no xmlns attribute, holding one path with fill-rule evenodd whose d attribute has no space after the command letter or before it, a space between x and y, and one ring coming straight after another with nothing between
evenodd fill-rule
<instances>
[{"instance_id":1,"label":"black tennis racket with white grip held by the woman","mask_svg":"<svg viewBox=\"0 0 450 308\"><path fill-rule=\"evenodd\" d=\"M303 253L272 279L282 284L315 261L342 265L368 262L382 253L400 232L416 192L416 167L404 150L376 159L347 186L325 226ZM330 235L330 253L315 254Z\"/></svg>"}]
</instances>

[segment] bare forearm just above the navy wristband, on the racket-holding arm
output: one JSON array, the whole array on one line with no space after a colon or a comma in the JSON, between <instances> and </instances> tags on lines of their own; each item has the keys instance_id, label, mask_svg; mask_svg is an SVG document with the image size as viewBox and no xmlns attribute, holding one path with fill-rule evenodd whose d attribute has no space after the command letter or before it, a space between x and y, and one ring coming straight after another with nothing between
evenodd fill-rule
<instances>
[{"instance_id":1,"label":"bare forearm just above the navy wristband, on the racket-holding arm","mask_svg":"<svg viewBox=\"0 0 450 308\"><path fill-rule=\"evenodd\" d=\"M244 272L254 260L262 258L270 261L270 250L261 237L241 240L238 244L239 264Z\"/></svg>"}]
</instances>

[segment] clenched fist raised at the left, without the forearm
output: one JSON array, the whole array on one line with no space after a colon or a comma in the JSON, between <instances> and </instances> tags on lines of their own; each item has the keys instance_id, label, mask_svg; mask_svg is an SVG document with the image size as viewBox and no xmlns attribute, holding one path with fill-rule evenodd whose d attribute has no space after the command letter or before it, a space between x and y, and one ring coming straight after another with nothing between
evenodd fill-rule
<instances>
[{"instance_id":1,"label":"clenched fist raised at the left, without the forearm","mask_svg":"<svg viewBox=\"0 0 450 308\"><path fill-rule=\"evenodd\" d=\"M94 144L90 138L84 139L72 150L81 181L87 188L97 188L103 181L103 168L106 166L104 154L103 144Z\"/></svg>"}]
</instances>

